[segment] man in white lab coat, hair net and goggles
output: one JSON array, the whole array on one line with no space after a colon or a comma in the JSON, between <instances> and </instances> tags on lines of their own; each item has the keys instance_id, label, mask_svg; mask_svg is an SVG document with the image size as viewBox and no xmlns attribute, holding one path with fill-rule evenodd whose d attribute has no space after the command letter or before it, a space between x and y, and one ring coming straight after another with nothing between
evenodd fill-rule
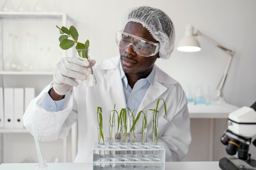
<instances>
[{"instance_id":1,"label":"man in white lab coat, hair net and goggles","mask_svg":"<svg viewBox=\"0 0 256 170\"><path fill-rule=\"evenodd\" d=\"M24 119L31 132L30 121L38 130L38 139L51 141L67 136L78 120L78 153L76 162L92 160L92 145L97 141L97 106L103 110L103 132L108 134L108 111L129 107L136 110L155 108L159 104L158 137L166 148L166 161L180 161L191 142L186 96L174 79L155 66L157 58L168 59L174 48L175 31L171 19L151 7L133 9L118 31L116 42L120 56L94 66L97 84L88 88L77 85L74 78L85 79L86 67L81 59L68 57L58 62L54 81L31 101ZM92 61L92 65L94 65ZM64 97L65 95L65 97ZM77 110L77 113L74 111ZM152 129L148 113L148 129ZM141 133L141 124L136 133ZM148 130L148 141L152 131Z\"/></svg>"}]
</instances>

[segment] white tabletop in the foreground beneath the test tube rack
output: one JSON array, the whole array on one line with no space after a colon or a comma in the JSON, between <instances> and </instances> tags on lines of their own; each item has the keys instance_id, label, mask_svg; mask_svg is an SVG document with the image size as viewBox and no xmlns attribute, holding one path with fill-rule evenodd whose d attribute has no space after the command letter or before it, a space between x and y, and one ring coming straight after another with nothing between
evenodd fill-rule
<instances>
[{"instance_id":1,"label":"white tabletop in the foreground beneath the test tube rack","mask_svg":"<svg viewBox=\"0 0 256 170\"><path fill-rule=\"evenodd\" d=\"M91 170L92 163L47 163L48 170ZM36 163L2 163L0 170L35 170ZM129 170L131 168L125 168ZM166 170L221 170L219 162L166 162Z\"/></svg>"}]
</instances>

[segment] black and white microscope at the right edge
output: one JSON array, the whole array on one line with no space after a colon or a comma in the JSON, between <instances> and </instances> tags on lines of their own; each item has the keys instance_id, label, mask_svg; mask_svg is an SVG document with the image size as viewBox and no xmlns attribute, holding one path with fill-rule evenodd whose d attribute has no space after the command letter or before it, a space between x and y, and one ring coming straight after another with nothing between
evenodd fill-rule
<instances>
[{"instance_id":1,"label":"black and white microscope at the right edge","mask_svg":"<svg viewBox=\"0 0 256 170\"><path fill-rule=\"evenodd\" d=\"M222 170L256 170L256 160L251 158L249 145L256 147L256 102L229 114L228 130L220 138L229 156L220 159Z\"/></svg>"}]
</instances>

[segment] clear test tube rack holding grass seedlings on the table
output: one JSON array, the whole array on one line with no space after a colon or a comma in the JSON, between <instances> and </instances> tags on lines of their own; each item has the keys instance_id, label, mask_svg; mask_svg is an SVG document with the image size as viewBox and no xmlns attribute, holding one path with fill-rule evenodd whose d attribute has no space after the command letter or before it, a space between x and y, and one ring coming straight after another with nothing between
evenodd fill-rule
<instances>
[{"instance_id":1,"label":"clear test tube rack holding grass seedlings on the table","mask_svg":"<svg viewBox=\"0 0 256 170\"><path fill-rule=\"evenodd\" d=\"M113 151L115 151L114 157L110 155L110 153L113 154ZM126 155L121 154L124 151L126 151ZM92 148L93 170L164 170L164 163L165 148L161 143L158 145L151 143L132 145L128 142L123 145L116 142L115 145L110 145L107 142L104 145L99 145L96 142Z\"/></svg>"}]
</instances>

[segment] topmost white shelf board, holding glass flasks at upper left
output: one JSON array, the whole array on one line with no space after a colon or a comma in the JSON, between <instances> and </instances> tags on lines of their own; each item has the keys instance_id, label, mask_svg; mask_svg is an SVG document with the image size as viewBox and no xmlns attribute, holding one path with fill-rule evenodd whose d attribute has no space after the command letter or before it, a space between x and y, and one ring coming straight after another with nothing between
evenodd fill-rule
<instances>
[{"instance_id":1,"label":"topmost white shelf board, holding glass flasks at upper left","mask_svg":"<svg viewBox=\"0 0 256 170\"><path fill-rule=\"evenodd\" d=\"M55 12L0 12L0 18L68 18L66 13Z\"/></svg>"}]
</instances>

